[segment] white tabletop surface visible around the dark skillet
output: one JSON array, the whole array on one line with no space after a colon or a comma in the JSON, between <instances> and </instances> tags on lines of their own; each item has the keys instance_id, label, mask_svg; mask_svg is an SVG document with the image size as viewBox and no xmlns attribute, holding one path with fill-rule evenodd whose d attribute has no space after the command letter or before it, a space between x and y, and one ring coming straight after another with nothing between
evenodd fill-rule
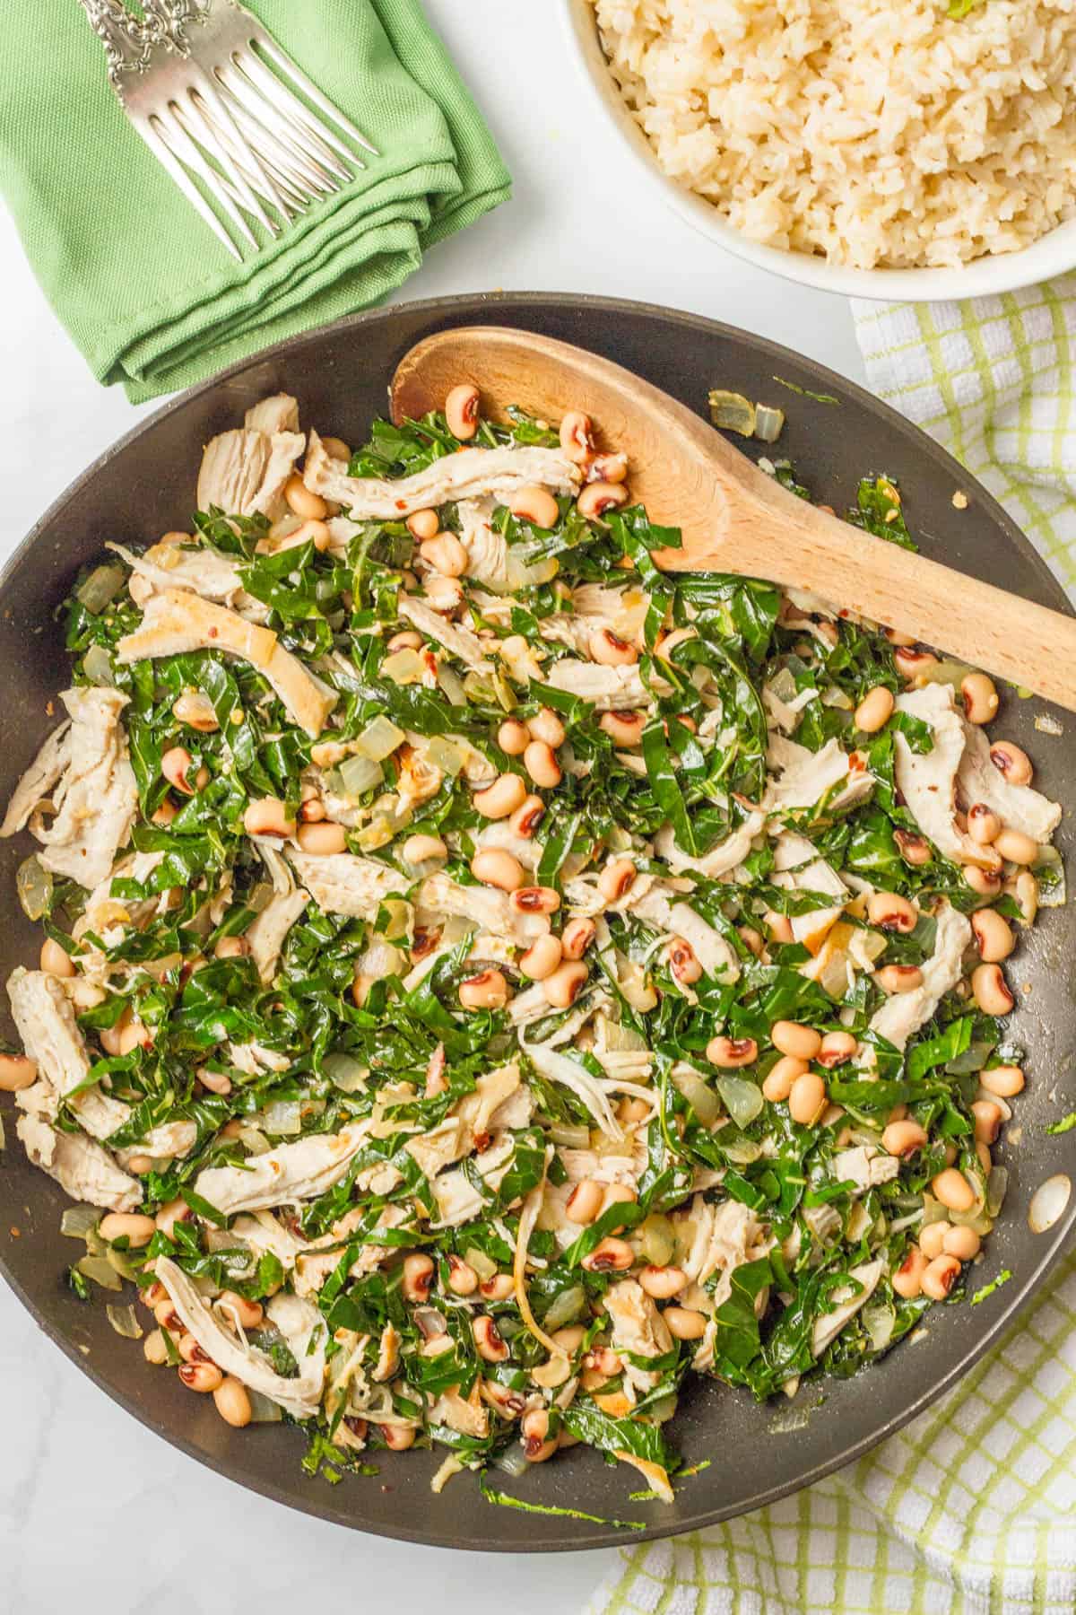
<instances>
[{"instance_id":1,"label":"white tabletop surface visible around the dark skillet","mask_svg":"<svg viewBox=\"0 0 1076 1615\"><path fill-rule=\"evenodd\" d=\"M550 289L669 304L760 331L861 380L849 305L750 270L636 194L581 94L553 8L427 0L515 174L515 199L439 247L403 296ZM55 321L0 212L0 557L140 413ZM2 1166L0 1166L2 1169ZM224 1615L266 1599L445 1615L574 1610L613 1554L526 1568L336 1531L174 1452L97 1392L0 1287L0 1610ZM124 1542L126 1539L126 1542ZM347 1602L344 1602L347 1600Z\"/></svg>"}]
</instances>

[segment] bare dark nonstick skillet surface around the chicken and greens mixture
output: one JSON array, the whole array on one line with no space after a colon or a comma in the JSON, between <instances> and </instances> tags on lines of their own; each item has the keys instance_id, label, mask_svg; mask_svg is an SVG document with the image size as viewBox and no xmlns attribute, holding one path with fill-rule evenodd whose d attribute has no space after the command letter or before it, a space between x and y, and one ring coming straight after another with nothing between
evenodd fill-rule
<instances>
[{"instance_id":1,"label":"bare dark nonstick skillet surface around the chicken and greens mixture","mask_svg":"<svg viewBox=\"0 0 1076 1615\"><path fill-rule=\"evenodd\" d=\"M900 483L908 523L928 556L1066 609L1058 583L1031 544L955 460L894 410L782 347L694 315L595 297L513 294L408 304L295 338L186 394L105 454L35 526L0 580L3 801L52 727L48 701L68 682L53 612L77 567L105 539L140 544L169 528L187 528L202 446L237 425L258 397L294 392L303 425L360 443L371 417L386 410L386 386L405 350L444 326L474 323L516 325L578 342L636 370L700 413L713 386L781 405L787 426L779 452L795 462L815 497L842 510L853 502L863 473L886 472ZM787 391L776 376L840 402L815 402ZM526 399L516 402L526 405ZM970 496L966 510L952 504L957 489ZM1071 801L1076 748L1071 740L1036 732L1034 719L1042 711L1042 703L1007 691L997 733L1031 753L1044 791ZM1073 722L1066 714L1053 715L1065 728ZM31 961L37 948L35 929L15 900L15 869L27 851L23 840L0 843L3 979L16 964ZM1058 841L1065 851L1068 824ZM1065 1248L1076 1219L1073 1202L1049 1234L1034 1235L1028 1227L1034 1189L1052 1172L1076 1169L1076 1132L1045 1132L1052 1119L1076 1106L1070 1055L1076 1042L1074 959L1073 912L1055 909L1021 942L1008 969L1020 1000L1011 1035L1026 1048L1029 1084L1016 1101L1020 1142L1005 1145L1000 1156L1010 1169L1008 1200L974 1276L976 1284L986 1284L1008 1268L1013 1279L1005 1289L981 1307L936 1308L924 1340L899 1345L858 1378L826 1384L823 1405L799 1429L774 1429L776 1423L789 1423L786 1403L758 1407L745 1392L689 1386L673 1428L689 1463L711 1463L681 1486L671 1507L631 1502L628 1494L639 1489L639 1478L624 1466L608 1468L584 1449L521 1479L497 1476L498 1487L540 1505L642 1521L645 1534L663 1536L795 1491L861 1455L931 1405L1016 1318ZM300 1470L298 1433L281 1424L227 1428L211 1399L190 1395L176 1374L150 1368L139 1345L118 1339L100 1300L85 1305L74 1297L65 1284L74 1247L58 1232L66 1200L26 1163L10 1116L8 1140L0 1166L5 1277L102 1391L184 1452L279 1502L382 1536L519 1552L639 1539L637 1533L607 1525L492 1507L468 1474L457 1476L436 1497L429 1479L444 1452L386 1454L377 1460L377 1478L347 1478L336 1487L308 1479ZM807 1400L816 1402L816 1392L808 1391Z\"/></svg>"}]
</instances>

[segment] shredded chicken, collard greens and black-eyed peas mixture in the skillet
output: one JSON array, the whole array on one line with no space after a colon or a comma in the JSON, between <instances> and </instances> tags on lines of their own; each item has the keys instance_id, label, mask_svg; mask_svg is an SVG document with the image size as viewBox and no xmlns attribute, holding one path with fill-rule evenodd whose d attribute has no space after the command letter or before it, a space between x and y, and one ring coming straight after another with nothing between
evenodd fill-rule
<instances>
[{"instance_id":1,"label":"shredded chicken, collard greens and black-eyed peas mixture in the skillet","mask_svg":"<svg viewBox=\"0 0 1076 1615\"><path fill-rule=\"evenodd\" d=\"M357 454L266 399L81 580L2 827L71 1282L331 1478L586 1442L668 1500L690 1370L857 1371L1002 1203L1061 809L986 675L658 573L626 473L466 384ZM884 478L853 518L910 543Z\"/></svg>"}]
</instances>

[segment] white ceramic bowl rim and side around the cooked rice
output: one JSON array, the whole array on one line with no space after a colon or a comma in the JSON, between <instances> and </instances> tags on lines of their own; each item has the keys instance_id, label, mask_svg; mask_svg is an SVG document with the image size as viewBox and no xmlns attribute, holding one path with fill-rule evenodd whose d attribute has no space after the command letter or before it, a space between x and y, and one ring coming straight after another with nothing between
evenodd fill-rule
<instances>
[{"instance_id":1,"label":"white ceramic bowl rim and side around the cooked rice","mask_svg":"<svg viewBox=\"0 0 1076 1615\"><path fill-rule=\"evenodd\" d=\"M784 275L802 286L816 286L845 297L871 297L881 302L945 302L961 297L984 297L1011 292L1020 286L1037 286L1055 275L1076 268L1076 220L1058 224L1031 247L997 257L976 258L957 270L852 270L805 252L782 252L749 241L728 224L716 208L694 192L666 178L636 120L628 111L608 69L590 0L560 0L568 39L582 69L586 84L619 129L640 179L660 191L673 212L728 252Z\"/></svg>"}]
</instances>

